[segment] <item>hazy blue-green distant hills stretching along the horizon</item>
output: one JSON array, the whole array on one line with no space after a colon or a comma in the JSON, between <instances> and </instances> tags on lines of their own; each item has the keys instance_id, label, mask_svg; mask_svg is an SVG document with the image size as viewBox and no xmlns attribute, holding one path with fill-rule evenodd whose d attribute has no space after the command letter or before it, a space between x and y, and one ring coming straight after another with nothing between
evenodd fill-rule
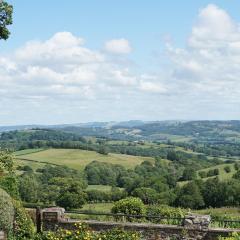
<instances>
[{"instance_id":1,"label":"hazy blue-green distant hills stretching along the horizon","mask_svg":"<svg viewBox=\"0 0 240 240\"><path fill-rule=\"evenodd\" d=\"M63 125L3 126L0 132L28 129L53 129L80 136L119 140L198 140L240 142L240 121L155 121L90 122Z\"/></svg>"}]
</instances>

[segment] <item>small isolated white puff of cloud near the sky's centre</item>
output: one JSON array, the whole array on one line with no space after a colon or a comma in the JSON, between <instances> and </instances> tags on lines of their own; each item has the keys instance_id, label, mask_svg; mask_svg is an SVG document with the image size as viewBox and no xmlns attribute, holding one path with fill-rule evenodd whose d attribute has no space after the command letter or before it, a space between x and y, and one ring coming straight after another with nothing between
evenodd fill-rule
<instances>
[{"instance_id":1,"label":"small isolated white puff of cloud near the sky's centre","mask_svg":"<svg viewBox=\"0 0 240 240\"><path fill-rule=\"evenodd\" d=\"M105 50L114 54L128 54L132 51L128 40L113 39L105 43Z\"/></svg>"}]
</instances>

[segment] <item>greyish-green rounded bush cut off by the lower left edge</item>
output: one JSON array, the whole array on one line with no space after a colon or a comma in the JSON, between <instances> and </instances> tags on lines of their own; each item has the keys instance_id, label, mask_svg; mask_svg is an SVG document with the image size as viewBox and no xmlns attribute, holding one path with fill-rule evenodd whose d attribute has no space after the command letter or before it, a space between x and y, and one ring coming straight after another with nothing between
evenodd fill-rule
<instances>
[{"instance_id":1,"label":"greyish-green rounded bush cut off by the lower left edge","mask_svg":"<svg viewBox=\"0 0 240 240\"><path fill-rule=\"evenodd\" d=\"M12 198L0 188L0 230L10 232L13 229L14 207Z\"/></svg>"}]
</instances>

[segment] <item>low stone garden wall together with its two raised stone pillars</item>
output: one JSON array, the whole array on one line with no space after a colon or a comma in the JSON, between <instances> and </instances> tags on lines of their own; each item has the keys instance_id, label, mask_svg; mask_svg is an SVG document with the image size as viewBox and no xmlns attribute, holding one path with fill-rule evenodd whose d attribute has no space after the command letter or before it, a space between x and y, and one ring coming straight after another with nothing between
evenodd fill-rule
<instances>
[{"instance_id":1,"label":"low stone garden wall together with its two raised stone pillars","mask_svg":"<svg viewBox=\"0 0 240 240\"><path fill-rule=\"evenodd\" d=\"M80 221L66 219L63 210L58 214L53 212L56 209L44 210L42 213L43 231L56 231L62 229L75 229L75 224ZM140 232L145 240L217 240L219 236L228 236L233 232L239 232L232 229L212 229L208 228L210 223L209 216L188 215L183 222L183 226L160 225L160 224L142 224L142 223L119 223L119 222L99 222L82 221L86 223L93 231L104 231L113 228L122 228Z\"/></svg>"}]
</instances>

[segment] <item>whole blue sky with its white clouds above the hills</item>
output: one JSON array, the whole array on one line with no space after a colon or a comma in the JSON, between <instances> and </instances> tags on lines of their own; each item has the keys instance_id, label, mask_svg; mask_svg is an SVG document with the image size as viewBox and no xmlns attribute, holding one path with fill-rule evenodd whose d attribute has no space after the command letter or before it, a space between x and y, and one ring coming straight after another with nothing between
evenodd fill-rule
<instances>
[{"instance_id":1,"label":"whole blue sky with its white clouds above the hills","mask_svg":"<svg viewBox=\"0 0 240 240\"><path fill-rule=\"evenodd\" d=\"M240 119L240 1L8 2L0 125Z\"/></svg>"}]
</instances>

